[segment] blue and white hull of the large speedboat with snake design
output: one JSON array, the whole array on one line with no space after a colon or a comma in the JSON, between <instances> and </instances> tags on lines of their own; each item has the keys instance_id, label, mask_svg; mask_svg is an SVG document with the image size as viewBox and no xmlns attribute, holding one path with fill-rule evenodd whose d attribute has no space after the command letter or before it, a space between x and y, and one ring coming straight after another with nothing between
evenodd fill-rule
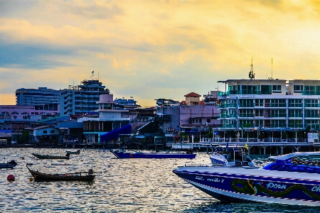
<instances>
[{"instance_id":1,"label":"blue and white hull of the large speedboat with snake design","mask_svg":"<svg viewBox=\"0 0 320 213\"><path fill-rule=\"evenodd\" d=\"M222 202L267 202L320 206L320 180L250 168L181 167L178 177ZM312 174L312 177L316 177ZM299 178L299 176L304 178Z\"/></svg>"}]
</instances>

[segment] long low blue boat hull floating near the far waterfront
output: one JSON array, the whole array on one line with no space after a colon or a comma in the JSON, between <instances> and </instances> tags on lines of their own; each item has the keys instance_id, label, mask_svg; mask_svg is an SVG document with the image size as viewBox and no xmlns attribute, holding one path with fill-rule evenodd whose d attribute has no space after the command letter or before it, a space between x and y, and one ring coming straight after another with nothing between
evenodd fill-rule
<instances>
[{"instance_id":1,"label":"long low blue boat hull floating near the far waterfront","mask_svg":"<svg viewBox=\"0 0 320 213\"><path fill-rule=\"evenodd\" d=\"M196 154L186 153L124 153L111 151L117 158L196 158Z\"/></svg>"}]
</instances>

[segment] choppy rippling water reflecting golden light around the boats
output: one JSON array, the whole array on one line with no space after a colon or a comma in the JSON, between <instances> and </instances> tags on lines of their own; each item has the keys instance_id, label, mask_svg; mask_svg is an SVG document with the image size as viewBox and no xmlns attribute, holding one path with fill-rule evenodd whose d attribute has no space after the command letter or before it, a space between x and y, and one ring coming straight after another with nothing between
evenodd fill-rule
<instances>
[{"instance_id":1,"label":"choppy rippling water reflecting golden light around the boats","mask_svg":"<svg viewBox=\"0 0 320 213\"><path fill-rule=\"evenodd\" d=\"M320 207L221 204L172 173L178 165L210 163L206 153L193 160L117 159L97 149L82 150L70 160L36 160L31 153L65 155L65 149L1 148L0 160L18 165L0 169L0 212L320 212ZM94 182L33 182L26 163L45 173L90 168L102 173ZM7 181L9 174L16 180Z\"/></svg>"}]
</instances>

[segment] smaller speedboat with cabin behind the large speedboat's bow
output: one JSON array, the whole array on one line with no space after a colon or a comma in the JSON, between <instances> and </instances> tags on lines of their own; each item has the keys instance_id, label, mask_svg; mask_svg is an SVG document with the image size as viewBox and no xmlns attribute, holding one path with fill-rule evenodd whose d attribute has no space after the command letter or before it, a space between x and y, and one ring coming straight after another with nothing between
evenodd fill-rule
<instances>
[{"instance_id":1,"label":"smaller speedboat with cabin behind the large speedboat's bow","mask_svg":"<svg viewBox=\"0 0 320 213\"><path fill-rule=\"evenodd\" d=\"M251 158L245 155L246 150L245 146L217 146L212 155L210 155L210 161L213 166L254 166L255 163L253 163Z\"/></svg>"}]
</instances>

